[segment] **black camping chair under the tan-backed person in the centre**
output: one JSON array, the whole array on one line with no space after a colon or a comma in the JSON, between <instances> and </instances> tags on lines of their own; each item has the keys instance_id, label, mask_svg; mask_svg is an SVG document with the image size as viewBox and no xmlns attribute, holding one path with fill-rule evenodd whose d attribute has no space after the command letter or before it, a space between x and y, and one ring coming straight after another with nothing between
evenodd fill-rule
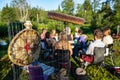
<instances>
[{"instance_id":1,"label":"black camping chair under the tan-backed person in the centre","mask_svg":"<svg viewBox=\"0 0 120 80\"><path fill-rule=\"evenodd\" d=\"M68 75L70 71L70 51L57 49L55 50L54 58L56 60L56 68L58 70L66 69L66 75Z\"/></svg>"}]
</instances>

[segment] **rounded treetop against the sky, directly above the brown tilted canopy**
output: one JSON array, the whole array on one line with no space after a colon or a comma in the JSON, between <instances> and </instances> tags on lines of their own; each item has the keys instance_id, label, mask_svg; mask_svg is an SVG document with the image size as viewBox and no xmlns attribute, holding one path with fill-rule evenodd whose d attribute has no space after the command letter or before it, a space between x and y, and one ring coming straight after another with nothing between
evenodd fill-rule
<instances>
[{"instance_id":1,"label":"rounded treetop against the sky, directly above the brown tilted canopy","mask_svg":"<svg viewBox=\"0 0 120 80\"><path fill-rule=\"evenodd\" d=\"M74 2L73 0L63 0L61 3L62 12L72 15L74 12Z\"/></svg>"}]
</instances>

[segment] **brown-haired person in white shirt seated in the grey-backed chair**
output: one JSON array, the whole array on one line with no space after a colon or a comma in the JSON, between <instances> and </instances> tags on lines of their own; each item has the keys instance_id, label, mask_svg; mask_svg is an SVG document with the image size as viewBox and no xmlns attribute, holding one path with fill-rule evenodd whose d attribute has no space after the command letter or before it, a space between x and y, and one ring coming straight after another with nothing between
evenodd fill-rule
<instances>
[{"instance_id":1,"label":"brown-haired person in white shirt seated in the grey-backed chair","mask_svg":"<svg viewBox=\"0 0 120 80\"><path fill-rule=\"evenodd\" d=\"M102 42L102 38L103 38L103 33L101 30L96 29L94 31L94 42L92 42L87 51L86 51L86 55L94 55L94 48L95 47L105 47L105 44ZM84 59L82 59L84 61ZM89 64L89 62L85 63L85 66L87 66Z\"/></svg>"}]
</instances>

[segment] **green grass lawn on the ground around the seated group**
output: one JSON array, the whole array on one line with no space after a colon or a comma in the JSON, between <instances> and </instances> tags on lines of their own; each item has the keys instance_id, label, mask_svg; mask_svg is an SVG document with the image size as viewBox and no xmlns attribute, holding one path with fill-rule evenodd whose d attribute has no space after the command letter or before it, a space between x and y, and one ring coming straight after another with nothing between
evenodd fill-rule
<instances>
[{"instance_id":1,"label":"green grass lawn on the ground around the seated group","mask_svg":"<svg viewBox=\"0 0 120 80\"><path fill-rule=\"evenodd\" d=\"M114 42L114 62L115 66L120 66L120 41ZM71 58L72 66L79 67L80 61L79 59ZM12 68L11 68L11 61L7 56L7 46L1 47L0 49L0 80L11 80L13 77ZM110 65L111 66L111 65ZM94 75L96 71L99 69L96 76ZM115 76L111 74L106 68L97 65L90 65L86 68L87 74L90 80L119 80L119 76ZM20 74L20 80L29 80L29 75L26 74L24 71ZM75 80L72 74L70 74L70 80Z\"/></svg>"}]
</instances>

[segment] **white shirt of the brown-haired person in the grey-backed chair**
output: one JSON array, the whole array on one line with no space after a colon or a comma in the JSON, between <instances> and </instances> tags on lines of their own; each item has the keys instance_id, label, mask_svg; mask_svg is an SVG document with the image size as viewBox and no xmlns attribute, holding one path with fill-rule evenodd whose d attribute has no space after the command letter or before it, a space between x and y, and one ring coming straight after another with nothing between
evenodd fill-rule
<instances>
[{"instance_id":1,"label":"white shirt of the brown-haired person in the grey-backed chair","mask_svg":"<svg viewBox=\"0 0 120 80\"><path fill-rule=\"evenodd\" d=\"M90 55L93 55L94 54L94 48L95 47L105 47L105 44L102 42L101 39L98 39L98 40L95 40L94 42L92 42L87 51L86 51L86 54L90 54Z\"/></svg>"}]
</instances>

